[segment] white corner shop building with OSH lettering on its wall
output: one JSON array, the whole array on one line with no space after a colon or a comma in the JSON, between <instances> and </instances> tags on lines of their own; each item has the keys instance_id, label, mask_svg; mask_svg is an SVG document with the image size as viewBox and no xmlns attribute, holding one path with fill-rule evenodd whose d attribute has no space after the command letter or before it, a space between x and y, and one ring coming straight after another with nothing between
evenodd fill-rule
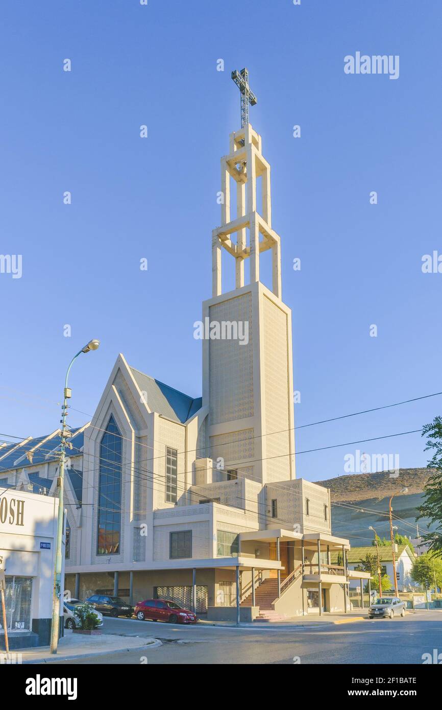
<instances>
[{"instance_id":1,"label":"white corner shop building with OSH lettering on its wall","mask_svg":"<svg viewBox=\"0 0 442 710\"><path fill-rule=\"evenodd\" d=\"M57 513L57 498L0 484L0 568L6 572L11 649L50 642ZM5 648L1 606L0 648Z\"/></svg>"}]
</instances>

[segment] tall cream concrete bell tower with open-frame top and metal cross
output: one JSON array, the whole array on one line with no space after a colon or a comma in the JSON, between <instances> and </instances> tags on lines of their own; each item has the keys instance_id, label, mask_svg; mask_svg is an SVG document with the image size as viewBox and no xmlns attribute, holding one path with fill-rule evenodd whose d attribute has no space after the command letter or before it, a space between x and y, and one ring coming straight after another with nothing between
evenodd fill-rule
<instances>
[{"instance_id":1,"label":"tall cream concrete bell tower with open-frame top and metal cross","mask_svg":"<svg viewBox=\"0 0 442 710\"><path fill-rule=\"evenodd\" d=\"M203 340L203 406L209 406L201 451L214 466L260 484L294 479L292 312L282 302L280 236L272 229L270 165L248 123L256 97L248 72L233 72L241 91L241 130L221 158L221 226L212 232L212 297L203 322L219 323ZM262 204L257 205L257 180ZM231 214L236 187L236 214ZM236 288L222 290L221 250L235 260ZM260 282L260 253L272 250L272 290ZM250 283L245 284L245 260ZM235 329L235 324L243 328ZM223 327L223 324L228 324ZM245 327L245 325L247 327ZM234 337L247 332L247 339ZM204 456L204 454L202 454Z\"/></svg>"}]
</instances>

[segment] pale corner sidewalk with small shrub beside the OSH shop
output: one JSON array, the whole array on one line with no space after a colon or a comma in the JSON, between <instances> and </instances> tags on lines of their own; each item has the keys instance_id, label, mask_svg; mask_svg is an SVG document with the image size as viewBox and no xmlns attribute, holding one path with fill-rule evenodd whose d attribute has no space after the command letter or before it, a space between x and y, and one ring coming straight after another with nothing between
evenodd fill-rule
<instances>
[{"instance_id":1,"label":"pale corner sidewalk with small shrub beside the OSH shop","mask_svg":"<svg viewBox=\"0 0 442 710\"><path fill-rule=\"evenodd\" d=\"M14 649L13 654L21 654L22 663L47 663L54 660L73 660L74 658L87 658L90 656L107 655L116 651L133 651L147 648L156 648L161 642L150 636L123 636L102 634L87 636L81 633L72 633L65 629L65 635L60 638L56 655L50 653L49 646L39 648Z\"/></svg>"}]
</instances>

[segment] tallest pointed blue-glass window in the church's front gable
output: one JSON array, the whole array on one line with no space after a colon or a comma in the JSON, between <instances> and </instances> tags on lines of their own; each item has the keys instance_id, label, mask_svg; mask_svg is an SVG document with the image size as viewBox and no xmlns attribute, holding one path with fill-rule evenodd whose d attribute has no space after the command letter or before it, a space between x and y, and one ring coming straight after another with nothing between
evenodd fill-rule
<instances>
[{"instance_id":1,"label":"tallest pointed blue-glass window in the church's front gable","mask_svg":"<svg viewBox=\"0 0 442 710\"><path fill-rule=\"evenodd\" d=\"M120 552L121 442L121 434L111 415L100 444L97 555Z\"/></svg>"}]
</instances>

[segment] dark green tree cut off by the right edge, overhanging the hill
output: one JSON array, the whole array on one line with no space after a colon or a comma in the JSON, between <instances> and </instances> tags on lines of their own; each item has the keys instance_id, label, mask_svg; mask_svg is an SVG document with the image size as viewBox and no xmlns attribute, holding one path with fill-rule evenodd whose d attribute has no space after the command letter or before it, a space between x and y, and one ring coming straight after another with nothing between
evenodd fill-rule
<instances>
[{"instance_id":1,"label":"dark green tree cut off by the right edge, overhanging the hill","mask_svg":"<svg viewBox=\"0 0 442 710\"><path fill-rule=\"evenodd\" d=\"M433 555L442 557L442 417L435 417L431 424L426 424L422 436L427 437L424 450L434 451L427 468L435 469L435 472L424 487L424 503L418 508L417 520L428 518L431 524L436 523L436 530L426 532L422 537L424 542L430 543L429 550Z\"/></svg>"}]
</instances>

